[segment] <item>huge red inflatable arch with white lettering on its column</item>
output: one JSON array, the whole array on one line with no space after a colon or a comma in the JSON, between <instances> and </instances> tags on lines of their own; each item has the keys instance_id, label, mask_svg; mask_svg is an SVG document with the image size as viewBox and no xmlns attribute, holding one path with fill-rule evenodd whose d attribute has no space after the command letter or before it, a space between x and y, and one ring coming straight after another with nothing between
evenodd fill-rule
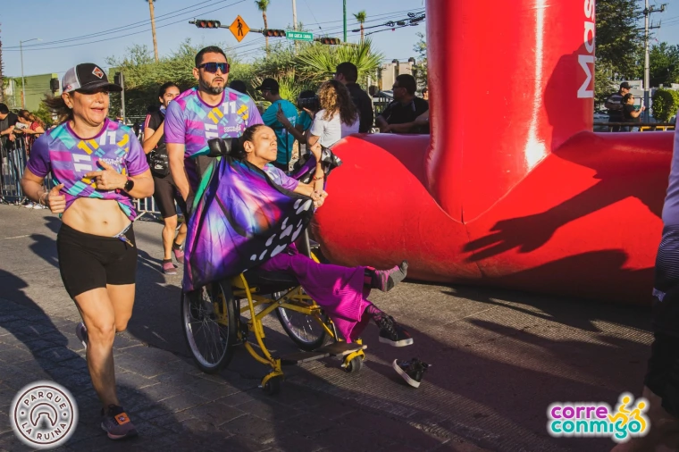
<instances>
[{"instance_id":1,"label":"huge red inflatable arch with white lettering on its column","mask_svg":"<svg viewBox=\"0 0 679 452\"><path fill-rule=\"evenodd\" d=\"M335 152L331 261L646 303L672 132L592 133L594 0L427 4L432 135Z\"/></svg>"}]
</instances>

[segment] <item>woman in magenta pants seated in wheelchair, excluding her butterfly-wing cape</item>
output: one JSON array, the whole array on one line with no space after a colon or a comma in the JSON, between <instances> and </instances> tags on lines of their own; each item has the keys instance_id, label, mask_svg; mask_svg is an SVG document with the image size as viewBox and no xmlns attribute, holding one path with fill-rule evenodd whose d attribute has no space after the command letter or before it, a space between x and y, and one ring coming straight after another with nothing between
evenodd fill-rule
<instances>
[{"instance_id":1,"label":"woman in magenta pants seated in wheelchair, excluding her butterfly-wing cape","mask_svg":"<svg viewBox=\"0 0 679 452\"><path fill-rule=\"evenodd\" d=\"M277 152L276 135L272 129L264 124L248 127L240 140L242 146L231 153L234 158L254 164L263 170L273 183L311 197L316 207L323 205L327 193L323 191L321 146L314 146L311 149L318 163L313 180L305 184L290 178L271 164L276 160ZM322 306L325 314L331 317L347 342L358 339L367 323L373 319L380 329L380 342L393 347L405 347L413 343L406 330L367 299L371 289L386 292L403 280L407 274L406 261L390 270L319 264L308 256L299 254L297 247L292 245L261 264L259 268L267 272L293 274L309 297Z\"/></svg>"}]
</instances>

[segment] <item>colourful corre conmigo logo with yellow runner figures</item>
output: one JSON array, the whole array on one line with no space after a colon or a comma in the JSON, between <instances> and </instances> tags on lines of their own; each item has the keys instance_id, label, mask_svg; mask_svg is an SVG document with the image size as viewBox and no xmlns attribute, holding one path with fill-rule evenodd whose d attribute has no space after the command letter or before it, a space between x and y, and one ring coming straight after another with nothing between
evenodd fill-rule
<instances>
[{"instance_id":1,"label":"colourful corre conmigo logo with yellow runner figures","mask_svg":"<svg viewBox=\"0 0 679 452\"><path fill-rule=\"evenodd\" d=\"M615 410L606 403L554 403L547 409L547 431L554 437L610 437L625 442L645 436L650 429L646 416L649 401L629 392L620 395Z\"/></svg>"}]
</instances>

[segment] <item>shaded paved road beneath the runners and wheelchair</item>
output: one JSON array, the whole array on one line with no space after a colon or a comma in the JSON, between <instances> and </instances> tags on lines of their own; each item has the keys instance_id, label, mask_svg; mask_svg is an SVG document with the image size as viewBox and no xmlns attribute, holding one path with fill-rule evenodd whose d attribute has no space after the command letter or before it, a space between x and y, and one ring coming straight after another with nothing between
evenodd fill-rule
<instances>
[{"instance_id":1,"label":"shaded paved road beneath the runners and wheelchair","mask_svg":"<svg viewBox=\"0 0 679 452\"><path fill-rule=\"evenodd\" d=\"M158 272L161 226L142 219L136 305L115 342L120 396L140 437L115 443L98 428L73 333L79 315L59 277L58 228L45 211L0 205L0 450L27 450L7 412L40 379L77 399L67 450L604 451L609 439L549 437L547 406L615 405L641 389L648 309L407 282L372 299L413 332L413 347L382 346L371 325L362 372L333 360L290 368L281 394L267 397L257 388L264 366L243 350L219 375L197 371L180 328L180 276ZM294 350L275 317L267 327L272 348ZM390 368L412 356L432 364L420 389Z\"/></svg>"}]
</instances>

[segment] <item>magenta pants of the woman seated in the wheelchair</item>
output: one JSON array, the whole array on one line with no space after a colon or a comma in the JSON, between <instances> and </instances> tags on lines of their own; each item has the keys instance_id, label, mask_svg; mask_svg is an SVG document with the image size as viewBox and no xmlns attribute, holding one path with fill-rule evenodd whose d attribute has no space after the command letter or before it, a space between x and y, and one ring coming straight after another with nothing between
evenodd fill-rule
<instances>
[{"instance_id":1,"label":"magenta pants of the woman seated in the wheelchair","mask_svg":"<svg viewBox=\"0 0 679 452\"><path fill-rule=\"evenodd\" d=\"M347 342L356 340L370 322L365 308L370 288L365 286L366 267L318 264L295 247L274 255L259 267L269 272L294 274L306 294L323 307Z\"/></svg>"}]
</instances>

